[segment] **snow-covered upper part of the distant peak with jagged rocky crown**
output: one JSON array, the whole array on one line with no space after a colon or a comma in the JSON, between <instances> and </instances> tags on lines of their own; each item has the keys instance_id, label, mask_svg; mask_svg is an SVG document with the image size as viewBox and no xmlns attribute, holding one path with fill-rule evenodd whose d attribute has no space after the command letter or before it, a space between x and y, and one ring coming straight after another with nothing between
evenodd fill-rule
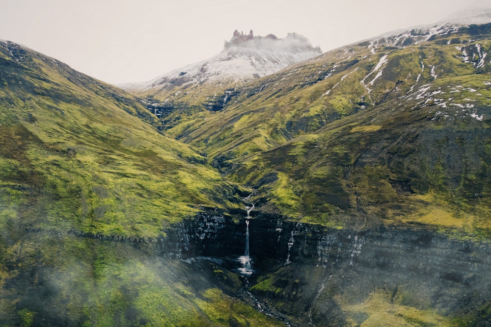
<instances>
[{"instance_id":1,"label":"snow-covered upper part of the distant peak with jagged rocky crown","mask_svg":"<svg viewBox=\"0 0 491 327\"><path fill-rule=\"evenodd\" d=\"M205 81L219 84L246 82L273 74L291 64L321 54L320 48L299 34L289 33L285 38L273 34L265 37L234 31L217 55L175 69L148 82L119 85L126 90L146 91L191 86Z\"/></svg>"}]
</instances>

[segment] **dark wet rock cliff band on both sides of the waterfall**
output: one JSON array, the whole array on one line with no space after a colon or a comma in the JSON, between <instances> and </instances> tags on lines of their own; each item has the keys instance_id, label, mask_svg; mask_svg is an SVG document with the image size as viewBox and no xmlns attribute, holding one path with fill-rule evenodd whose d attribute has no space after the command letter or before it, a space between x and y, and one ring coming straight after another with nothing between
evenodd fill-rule
<instances>
[{"instance_id":1,"label":"dark wet rock cliff band on both sides of the waterfall","mask_svg":"<svg viewBox=\"0 0 491 327\"><path fill-rule=\"evenodd\" d=\"M245 219L202 214L169 231L159 241L161 255L212 257L232 271L240 266ZM466 319L491 299L489 245L436 230L337 230L258 217L249 220L249 235L250 291L302 326L368 319L370 313L353 314L346 303L381 293L391 305Z\"/></svg>"}]
</instances>

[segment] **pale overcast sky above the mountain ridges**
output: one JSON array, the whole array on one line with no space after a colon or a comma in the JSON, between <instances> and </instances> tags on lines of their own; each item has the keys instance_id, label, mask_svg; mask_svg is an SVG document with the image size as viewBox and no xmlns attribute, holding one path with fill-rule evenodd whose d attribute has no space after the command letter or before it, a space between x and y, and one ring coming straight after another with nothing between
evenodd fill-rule
<instances>
[{"instance_id":1,"label":"pale overcast sky above the mountain ridges","mask_svg":"<svg viewBox=\"0 0 491 327\"><path fill-rule=\"evenodd\" d=\"M479 1L483 2L483 0ZM485 0L490 2L490 0ZM146 81L220 52L235 29L296 32L323 51L472 4L462 0L0 0L0 39L109 83Z\"/></svg>"}]
</instances>

